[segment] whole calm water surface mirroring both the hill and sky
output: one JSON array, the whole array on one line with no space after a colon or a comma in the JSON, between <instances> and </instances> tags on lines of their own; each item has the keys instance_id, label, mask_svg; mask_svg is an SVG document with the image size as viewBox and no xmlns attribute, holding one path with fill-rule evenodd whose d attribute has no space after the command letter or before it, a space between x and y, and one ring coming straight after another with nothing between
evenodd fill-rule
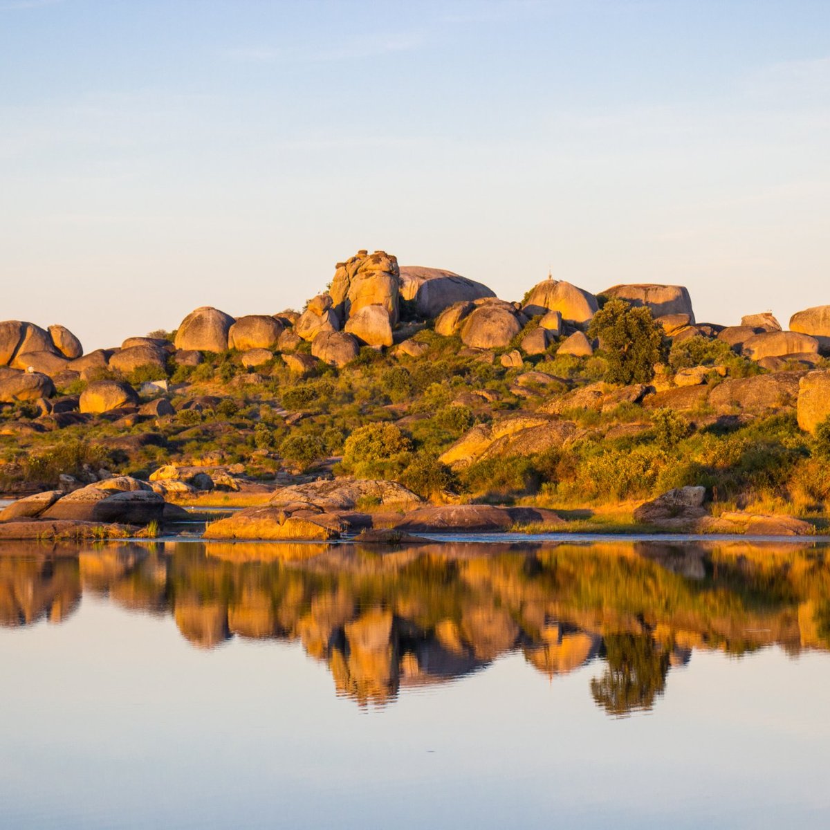
<instances>
[{"instance_id":1,"label":"whole calm water surface mirroring both the hill and sky","mask_svg":"<svg viewBox=\"0 0 830 830\"><path fill-rule=\"evenodd\" d=\"M0 826L825 828L826 553L0 546Z\"/></svg>"}]
</instances>

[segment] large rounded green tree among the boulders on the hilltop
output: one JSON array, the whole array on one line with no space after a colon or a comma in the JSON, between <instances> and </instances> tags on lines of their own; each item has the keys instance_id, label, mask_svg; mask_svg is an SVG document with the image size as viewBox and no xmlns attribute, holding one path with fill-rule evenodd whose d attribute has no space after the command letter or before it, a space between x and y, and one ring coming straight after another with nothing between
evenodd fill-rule
<instances>
[{"instance_id":1,"label":"large rounded green tree among the boulders on the hilltop","mask_svg":"<svg viewBox=\"0 0 830 830\"><path fill-rule=\"evenodd\" d=\"M608 359L608 383L647 383L663 359L662 329L647 306L608 300L593 315L588 336L599 338Z\"/></svg>"}]
</instances>

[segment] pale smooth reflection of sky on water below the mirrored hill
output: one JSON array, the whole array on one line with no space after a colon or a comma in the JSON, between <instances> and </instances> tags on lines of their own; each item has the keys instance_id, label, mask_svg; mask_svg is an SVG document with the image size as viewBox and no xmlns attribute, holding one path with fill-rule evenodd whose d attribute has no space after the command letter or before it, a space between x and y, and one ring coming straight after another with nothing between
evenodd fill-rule
<instances>
[{"instance_id":1,"label":"pale smooth reflection of sky on water below the mirrored hill","mask_svg":"<svg viewBox=\"0 0 830 830\"><path fill-rule=\"evenodd\" d=\"M824 652L696 649L622 720L591 695L603 660L549 678L521 651L365 709L299 642L206 651L85 593L0 629L0 666L4 827L823 827L830 807Z\"/></svg>"}]
</instances>

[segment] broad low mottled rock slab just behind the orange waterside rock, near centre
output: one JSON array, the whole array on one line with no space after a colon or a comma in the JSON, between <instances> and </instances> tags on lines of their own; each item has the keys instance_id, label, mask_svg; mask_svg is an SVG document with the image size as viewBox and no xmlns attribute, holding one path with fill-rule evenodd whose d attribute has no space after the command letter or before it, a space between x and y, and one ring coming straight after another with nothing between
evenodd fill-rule
<instances>
[{"instance_id":1,"label":"broad low mottled rock slab just behind the orange waterside rock, near centre","mask_svg":"<svg viewBox=\"0 0 830 830\"><path fill-rule=\"evenodd\" d=\"M354 510L369 500L383 507L409 507L422 499L394 481L337 478L281 487L271 496L271 505L308 504L322 510Z\"/></svg>"}]
</instances>

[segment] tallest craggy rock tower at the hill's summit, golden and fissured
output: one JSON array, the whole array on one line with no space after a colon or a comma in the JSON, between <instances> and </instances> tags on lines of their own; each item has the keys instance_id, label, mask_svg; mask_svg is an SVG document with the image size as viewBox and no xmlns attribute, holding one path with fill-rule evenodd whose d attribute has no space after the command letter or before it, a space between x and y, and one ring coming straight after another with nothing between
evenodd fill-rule
<instances>
[{"instance_id":1,"label":"tallest craggy rock tower at the hill's summit, golden and fissured","mask_svg":"<svg viewBox=\"0 0 830 830\"><path fill-rule=\"evenodd\" d=\"M398 260L386 251L358 251L339 262L331 283L331 299L340 320L349 320L367 305L381 305L390 325L398 323L400 271Z\"/></svg>"}]
</instances>

